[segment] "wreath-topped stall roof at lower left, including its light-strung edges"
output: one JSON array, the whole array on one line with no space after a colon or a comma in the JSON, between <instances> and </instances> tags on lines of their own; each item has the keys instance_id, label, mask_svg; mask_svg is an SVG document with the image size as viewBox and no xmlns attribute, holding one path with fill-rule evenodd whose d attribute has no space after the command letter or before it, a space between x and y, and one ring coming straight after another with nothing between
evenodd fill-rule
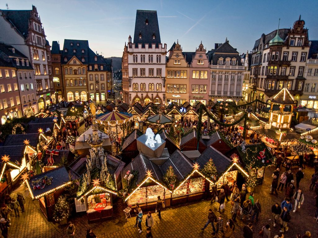
<instances>
[{"instance_id":1,"label":"wreath-topped stall roof at lower left, including its light-strung edges","mask_svg":"<svg viewBox=\"0 0 318 238\"><path fill-rule=\"evenodd\" d=\"M52 183L50 185L45 185L43 189L33 189L32 182L44 178L44 176L52 177ZM71 183L68 176L68 172L65 167L59 167L56 169L49 170L45 173L35 175L31 177L27 182L27 187L31 194L32 199L39 199L40 197L51 193L55 190L63 188L67 184Z\"/></svg>"}]
</instances>

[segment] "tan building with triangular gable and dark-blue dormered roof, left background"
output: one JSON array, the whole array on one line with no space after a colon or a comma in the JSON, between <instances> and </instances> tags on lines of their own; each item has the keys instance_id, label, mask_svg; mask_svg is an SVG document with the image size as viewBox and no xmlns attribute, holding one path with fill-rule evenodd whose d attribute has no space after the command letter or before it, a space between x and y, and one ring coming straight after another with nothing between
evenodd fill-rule
<instances>
[{"instance_id":1,"label":"tan building with triangular gable and dark-blue dormered roof, left background","mask_svg":"<svg viewBox=\"0 0 318 238\"><path fill-rule=\"evenodd\" d=\"M88 51L86 40L64 40L61 68L66 101L89 99L86 76Z\"/></svg>"}]
</instances>

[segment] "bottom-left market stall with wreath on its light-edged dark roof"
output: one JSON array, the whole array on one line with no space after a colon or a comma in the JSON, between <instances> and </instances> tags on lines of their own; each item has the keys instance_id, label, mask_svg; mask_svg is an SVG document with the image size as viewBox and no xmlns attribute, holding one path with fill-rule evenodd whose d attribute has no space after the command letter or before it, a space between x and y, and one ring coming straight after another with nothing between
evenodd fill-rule
<instances>
[{"instance_id":1,"label":"bottom-left market stall with wreath on its light-edged dark roof","mask_svg":"<svg viewBox=\"0 0 318 238\"><path fill-rule=\"evenodd\" d=\"M64 187L71 183L66 168L55 168L31 178L25 175L24 179L31 198L39 200L41 212L51 221L55 201L64 191Z\"/></svg>"}]
</instances>

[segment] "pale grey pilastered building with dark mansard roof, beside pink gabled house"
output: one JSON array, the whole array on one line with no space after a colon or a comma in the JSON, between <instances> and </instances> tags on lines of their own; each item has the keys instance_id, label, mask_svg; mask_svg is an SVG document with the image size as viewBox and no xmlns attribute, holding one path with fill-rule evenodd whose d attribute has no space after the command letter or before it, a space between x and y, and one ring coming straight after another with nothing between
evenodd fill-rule
<instances>
[{"instance_id":1,"label":"pale grey pilastered building with dark mansard roof, beside pink gabled house","mask_svg":"<svg viewBox=\"0 0 318 238\"><path fill-rule=\"evenodd\" d=\"M208 51L211 65L210 96L212 101L238 102L242 96L242 75L244 66L239 52L226 39L225 43L215 44L215 49Z\"/></svg>"}]
</instances>

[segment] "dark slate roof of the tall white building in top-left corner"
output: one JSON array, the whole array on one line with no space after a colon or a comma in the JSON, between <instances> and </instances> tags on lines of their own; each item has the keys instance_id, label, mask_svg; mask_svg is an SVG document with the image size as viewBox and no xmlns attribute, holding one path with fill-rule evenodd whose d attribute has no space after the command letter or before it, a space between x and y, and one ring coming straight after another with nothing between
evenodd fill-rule
<instances>
[{"instance_id":1,"label":"dark slate roof of the tall white building in top-left corner","mask_svg":"<svg viewBox=\"0 0 318 238\"><path fill-rule=\"evenodd\" d=\"M1 10L5 18L17 28L21 35L26 39L28 36L29 19L31 10Z\"/></svg>"}]
</instances>

